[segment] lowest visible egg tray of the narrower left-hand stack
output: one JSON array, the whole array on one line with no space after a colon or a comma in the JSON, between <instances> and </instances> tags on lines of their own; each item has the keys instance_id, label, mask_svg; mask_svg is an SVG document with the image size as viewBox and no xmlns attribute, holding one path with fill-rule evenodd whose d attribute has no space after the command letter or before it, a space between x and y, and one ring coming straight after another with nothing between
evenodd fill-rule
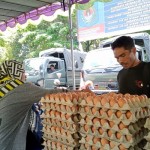
<instances>
[{"instance_id":1,"label":"lowest visible egg tray of the narrower left-hand stack","mask_svg":"<svg viewBox=\"0 0 150 150\"><path fill-rule=\"evenodd\" d=\"M47 139L44 139L44 143L42 144L44 146L44 150L78 150L78 147L71 147L68 145L64 145L60 142L54 142Z\"/></svg>"}]
</instances>

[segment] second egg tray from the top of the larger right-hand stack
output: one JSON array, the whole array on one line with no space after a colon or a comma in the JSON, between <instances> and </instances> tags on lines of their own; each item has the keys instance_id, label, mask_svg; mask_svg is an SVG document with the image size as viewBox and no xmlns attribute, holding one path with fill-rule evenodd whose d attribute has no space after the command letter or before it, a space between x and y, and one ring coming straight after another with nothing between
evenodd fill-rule
<instances>
[{"instance_id":1,"label":"second egg tray from the top of the larger right-hand stack","mask_svg":"<svg viewBox=\"0 0 150 150\"><path fill-rule=\"evenodd\" d=\"M94 110L92 112L92 110ZM140 118L145 118L150 115L149 108L139 108L138 110L110 110L112 115L108 115L108 111L110 109L104 108L96 108L96 107L80 107L79 112L82 118L89 116L91 119L94 117L107 119L110 121L115 121L117 124L119 122L123 122L125 125L129 125L130 123L135 123ZM117 117L116 113L120 112L121 115ZM102 113L101 113L102 112ZM127 113L130 113L130 116L127 117Z\"/></svg>"}]
</instances>

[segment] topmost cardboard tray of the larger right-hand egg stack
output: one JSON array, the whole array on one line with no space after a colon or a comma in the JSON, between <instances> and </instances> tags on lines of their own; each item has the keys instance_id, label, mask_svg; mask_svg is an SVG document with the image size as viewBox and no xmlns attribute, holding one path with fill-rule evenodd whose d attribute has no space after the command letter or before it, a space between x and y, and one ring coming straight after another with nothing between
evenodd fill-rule
<instances>
[{"instance_id":1,"label":"topmost cardboard tray of the larger right-hand egg stack","mask_svg":"<svg viewBox=\"0 0 150 150\"><path fill-rule=\"evenodd\" d=\"M150 99L145 99L143 101L140 101L138 98L126 101L122 107L120 107L118 103L115 103L113 106L110 106L109 102L106 102L104 105L102 105L101 99L99 99L99 101L97 101L97 103L94 104L94 98L95 97L89 96L86 99L82 100L80 105L82 107L83 106L91 106L91 107L96 106L98 108L117 109L117 110L136 110L137 108L147 107L148 105L150 105ZM90 99L90 100L88 100L87 102L87 99Z\"/></svg>"}]
</instances>

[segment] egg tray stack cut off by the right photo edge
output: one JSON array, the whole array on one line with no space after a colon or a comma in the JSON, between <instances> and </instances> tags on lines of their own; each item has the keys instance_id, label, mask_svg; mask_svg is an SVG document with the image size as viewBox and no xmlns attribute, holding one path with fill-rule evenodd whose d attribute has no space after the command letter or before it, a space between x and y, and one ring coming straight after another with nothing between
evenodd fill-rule
<instances>
[{"instance_id":1,"label":"egg tray stack cut off by the right photo edge","mask_svg":"<svg viewBox=\"0 0 150 150\"><path fill-rule=\"evenodd\" d=\"M148 135L145 136L147 143L144 146L144 149L149 150L150 149L150 117L147 118L144 127L148 129Z\"/></svg>"}]
</instances>

